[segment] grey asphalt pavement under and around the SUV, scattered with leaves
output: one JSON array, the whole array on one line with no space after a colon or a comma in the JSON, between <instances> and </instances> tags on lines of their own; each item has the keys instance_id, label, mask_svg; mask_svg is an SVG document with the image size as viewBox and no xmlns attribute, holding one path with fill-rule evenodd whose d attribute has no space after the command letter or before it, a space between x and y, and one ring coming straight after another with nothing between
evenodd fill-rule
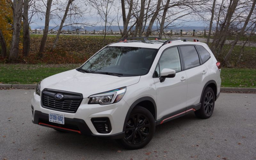
<instances>
[{"instance_id":1,"label":"grey asphalt pavement under and around the SUV, scattered with leaves","mask_svg":"<svg viewBox=\"0 0 256 160\"><path fill-rule=\"evenodd\" d=\"M256 94L221 93L211 118L192 113L158 125L145 148L125 150L115 140L32 124L33 92L0 90L0 160L256 159Z\"/></svg>"}]
</instances>

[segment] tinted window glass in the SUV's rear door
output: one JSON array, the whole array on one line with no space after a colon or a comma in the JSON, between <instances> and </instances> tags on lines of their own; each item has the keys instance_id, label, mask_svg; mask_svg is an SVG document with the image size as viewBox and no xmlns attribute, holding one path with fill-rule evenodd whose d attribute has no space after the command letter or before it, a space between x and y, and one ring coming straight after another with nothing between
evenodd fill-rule
<instances>
[{"instance_id":1,"label":"tinted window glass in the SUV's rear door","mask_svg":"<svg viewBox=\"0 0 256 160\"><path fill-rule=\"evenodd\" d=\"M180 50L184 59L185 69L200 65L195 46L180 46Z\"/></svg>"}]
</instances>

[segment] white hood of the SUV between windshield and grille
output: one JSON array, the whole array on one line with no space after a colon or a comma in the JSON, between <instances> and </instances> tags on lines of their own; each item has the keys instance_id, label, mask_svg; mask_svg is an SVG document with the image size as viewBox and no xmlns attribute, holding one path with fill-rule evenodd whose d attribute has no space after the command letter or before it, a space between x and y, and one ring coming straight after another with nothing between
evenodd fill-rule
<instances>
[{"instance_id":1,"label":"white hood of the SUV between windshield and grille","mask_svg":"<svg viewBox=\"0 0 256 160\"><path fill-rule=\"evenodd\" d=\"M140 76L118 77L112 75L82 73L76 69L62 72L41 81L44 88L82 93L84 98L92 94L114 90L138 83Z\"/></svg>"}]
</instances>

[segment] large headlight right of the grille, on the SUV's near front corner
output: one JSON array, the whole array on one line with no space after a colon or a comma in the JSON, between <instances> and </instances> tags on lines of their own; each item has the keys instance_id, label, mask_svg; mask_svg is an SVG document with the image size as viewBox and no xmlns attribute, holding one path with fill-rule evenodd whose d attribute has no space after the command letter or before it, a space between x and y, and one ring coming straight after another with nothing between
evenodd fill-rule
<instances>
[{"instance_id":1,"label":"large headlight right of the grille, on the SUV's near front corner","mask_svg":"<svg viewBox=\"0 0 256 160\"><path fill-rule=\"evenodd\" d=\"M88 104L111 104L117 103L124 97L126 87L118 88L112 91L91 95Z\"/></svg>"}]
</instances>

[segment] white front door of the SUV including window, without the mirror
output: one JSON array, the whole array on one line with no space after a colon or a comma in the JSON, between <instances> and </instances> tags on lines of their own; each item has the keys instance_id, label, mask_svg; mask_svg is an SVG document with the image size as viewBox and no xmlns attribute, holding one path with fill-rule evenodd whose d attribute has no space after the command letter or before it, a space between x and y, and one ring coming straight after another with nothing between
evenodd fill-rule
<instances>
[{"instance_id":1,"label":"white front door of the SUV including window, without the mirror","mask_svg":"<svg viewBox=\"0 0 256 160\"><path fill-rule=\"evenodd\" d=\"M174 69L176 75L160 82L160 71L164 68ZM178 47L164 50L157 64L154 81L156 85L157 117L163 117L180 109L186 110L187 81L182 70ZM182 111L180 111L182 112Z\"/></svg>"}]
</instances>

